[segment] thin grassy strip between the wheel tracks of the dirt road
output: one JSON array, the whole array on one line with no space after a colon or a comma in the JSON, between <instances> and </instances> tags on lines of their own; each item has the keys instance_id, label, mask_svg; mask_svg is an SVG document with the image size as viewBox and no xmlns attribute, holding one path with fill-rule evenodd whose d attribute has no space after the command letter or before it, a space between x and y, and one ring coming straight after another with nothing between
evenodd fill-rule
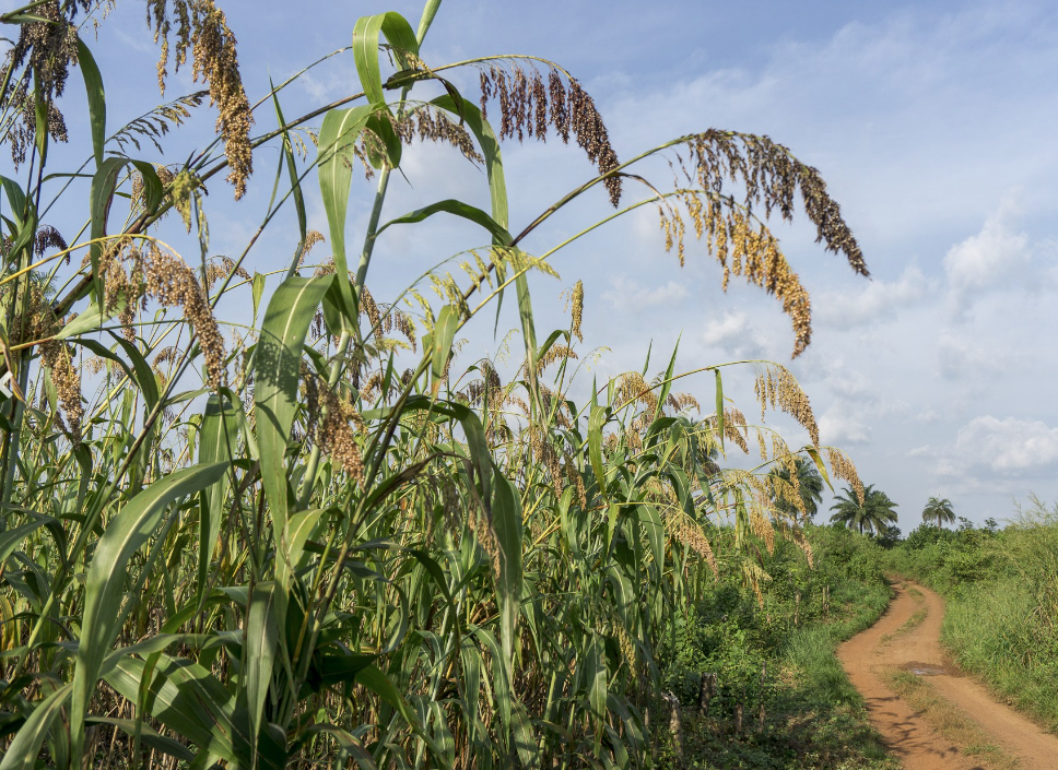
<instances>
[{"instance_id":1,"label":"thin grassy strip between the wheel tracks of the dirt road","mask_svg":"<svg viewBox=\"0 0 1058 770\"><path fill-rule=\"evenodd\" d=\"M989 770L1016 770L1018 760L991 743L990 736L950 700L941 696L928 679L909 671L887 668L880 672L885 683L904 698L941 735L961 750L983 762Z\"/></svg>"}]
</instances>

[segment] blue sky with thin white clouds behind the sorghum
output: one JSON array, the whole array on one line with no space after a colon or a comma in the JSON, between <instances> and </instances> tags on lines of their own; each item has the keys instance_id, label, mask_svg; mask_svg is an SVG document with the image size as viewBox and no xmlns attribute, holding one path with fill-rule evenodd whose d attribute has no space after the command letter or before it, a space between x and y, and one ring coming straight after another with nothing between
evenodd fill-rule
<instances>
[{"instance_id":1,"label":"blue sky with thin white clouds behind the sorghum","mask_svg":"<svg viewBox=\"0 0 1058 770\"><path fill-rule=\"evenodd\" d=\"M251 100L267 93L269 76L280 82L348 46L357 16L397 10L415 26L421 11L407 1L221 5ZM107 92L110 126L158 102L156 47L142 11L119 1L98 38L89 38L105 81L121 83ZM651 371L663 369L678 341L680 370L742 358L786 364L811 398L823 441L846 449L863 481L898 504L906 533L931 496L978 524L1014 516L1032 494L1058 498L1056 43L1058 5L1046 0L445 0L422 55L434 66L493 54L560 62L593 96L621 157L721 128L767 134L819 168L872 279L824 252L803 215L792 226L775 223L812 296L813 342L797 359L779 305L734 281L722 293L702 245L689 245L681 269L650 209L560 252L560 280L533 280L538 328L543 335L567 324L560 294L583 279L584 350L609 348L591 372L600 380L642 368L648 348ZM473 72L452 79L477 98ZM181 71L167 95L193 87ZM281 99L290 117L358 90L345 54ZM75 91L64 106L71 126L84 120ZM202 110L164 158L145 145L141 156L180 161L181 146L200 144L213 120ZM274 126L269 107L257 123ZM405 158L385 215L440 198L487 205L483 175L450 150L415 147ZM258 189L238 205L230 189L211 186L219 253L239 250L256 229L277 161L274 150L255 156ZM591 176L579 151L555 139L510 143L504 161L514 230ZM670 179L663 163L643 170L661 185ZM372 193L371 183L354 182L350 233L366 222ZM527 248L543 250L606 214L600 192ZM326 232L316 194L309 218ZM255 247L257 270L285 265L296 240L286 235L291 222ZM457 223L395 227L368 283L379 298L393 296L410 275L479 242ZM501 335L515 323L504 316ZM494 353L491 332L491 319L472 330L472 351ZM752 376L744 368L725 380L748 415ZM685 388L712 402L712 379L689 378ZM768 425L789 430L791 443L807 440L788 420L769 416Z\"/></svg>"}]
</instances>

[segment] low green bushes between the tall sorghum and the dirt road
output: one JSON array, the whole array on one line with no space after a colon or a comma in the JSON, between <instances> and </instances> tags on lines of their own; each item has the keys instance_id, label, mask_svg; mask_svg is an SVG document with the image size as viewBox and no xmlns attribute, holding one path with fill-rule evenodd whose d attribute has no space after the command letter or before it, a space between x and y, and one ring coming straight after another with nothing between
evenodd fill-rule
<instances>
[{"instance_id":1,"label":"low green bushes between the tall sorghum and the dirt road","mask_svg":"<svg viewBox=\"0 0 1058 770\"><path fill-rule=\"evenodd\" d=\"M762 554L773 579L760 594L737 577L719 580L662 645L662 684L680 702L690 767L895 767L835 656L839 641L874 623L889 604L882 549L844 528L809 526L806 536L814 567L790 544L777 545ZM730 536L716 537L725 540ZM703 713L708 674L716 687ZM736 734L740 706L743 730ZM671 732L662 715L659 731ZM674 741L670 734L677 763Z\"/></svg>"}]
</instances>

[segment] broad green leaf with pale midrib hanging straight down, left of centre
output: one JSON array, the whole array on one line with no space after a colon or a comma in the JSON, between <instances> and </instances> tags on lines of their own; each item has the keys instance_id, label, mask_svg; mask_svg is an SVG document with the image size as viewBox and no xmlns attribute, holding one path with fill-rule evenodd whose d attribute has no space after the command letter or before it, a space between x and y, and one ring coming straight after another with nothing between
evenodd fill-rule
<instances>
[{"instance_id":1,"label":"broad green leaf with pale midrib hanging straight down, left of centre","mask_svg":"<svg viewBox=\"0 0 1058 770\"><path fill-rule=\"evenodd\" d=\"M254 401L261 481L272 526L278 535L286 524L289 502L286 442L297 406L302 346L333 276L286 279L268 303L261 339L254 354Z\"/></svg>"}]
</instances>

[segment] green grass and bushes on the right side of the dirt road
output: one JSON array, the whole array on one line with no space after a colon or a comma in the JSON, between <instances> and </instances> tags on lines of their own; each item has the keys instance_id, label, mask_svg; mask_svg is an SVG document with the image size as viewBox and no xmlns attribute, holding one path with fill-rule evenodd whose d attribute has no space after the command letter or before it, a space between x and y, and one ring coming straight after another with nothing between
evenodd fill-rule
<instances>
[{"instance_id":1,"label":"green grass and bushes on the right side of the dirt road","mask_svg":"<svg viewBox=\"0 0 1058 770\"><path fill-rule=\"evenodd\" d=\"M944 595L959 665L1058 730L1058 506L1033 498L1003 529L924 524L890 557Z\"/></svg>"}]
</instances>

